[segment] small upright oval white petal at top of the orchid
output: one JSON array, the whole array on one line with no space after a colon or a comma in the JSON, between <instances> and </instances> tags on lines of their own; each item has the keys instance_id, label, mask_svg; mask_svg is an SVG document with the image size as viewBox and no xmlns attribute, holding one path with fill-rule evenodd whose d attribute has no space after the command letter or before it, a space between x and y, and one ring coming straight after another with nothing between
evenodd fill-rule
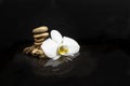
<instances>
[{"instance_id":1,"label":"small upright oval white petal at top of the orchid","mask_svg":"<svg viewBox=\"0 0 130 86\"><path fill-rule=\"evenodd\" d=\"M51 31L51 38L56 43L58 43L58 44L62 43L62 34L57 30Z\"/></svg>"}]
</instances>

